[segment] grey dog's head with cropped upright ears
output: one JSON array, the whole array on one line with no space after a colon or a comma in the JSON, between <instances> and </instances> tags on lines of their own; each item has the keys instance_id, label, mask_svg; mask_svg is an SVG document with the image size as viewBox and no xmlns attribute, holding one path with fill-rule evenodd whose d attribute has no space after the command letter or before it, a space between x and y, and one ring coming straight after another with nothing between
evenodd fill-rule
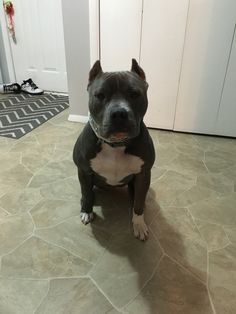
<instances>
[{"instance_id":1,"label":"grey dog's head with cropped upright ears","mask_svg":"<svg viewBox=\"0 0 236 314\"><path fill-rule=\"evenodd\" d=\"M135 59L131 71L103 72L96 61L89 72L90 124L98 137L122 142L138 136L147 110L145 73Z\"/></svg>"}]
</instances>

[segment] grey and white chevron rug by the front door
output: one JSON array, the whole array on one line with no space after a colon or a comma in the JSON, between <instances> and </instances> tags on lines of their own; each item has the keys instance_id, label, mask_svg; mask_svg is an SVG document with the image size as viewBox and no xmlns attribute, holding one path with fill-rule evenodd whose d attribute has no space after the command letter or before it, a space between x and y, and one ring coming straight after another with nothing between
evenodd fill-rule
<instances>
[{"instance_id":1,"label":"grey and white chevron rug by the front door","mask_svg":"<svg viewBox=\"0 0 236 314\"><path fill-rule=\"evenodd\" d=\"M0 99L0 136L19 139L69 107L68 96L18 94Z\"/></svg>"}]
</instances>

